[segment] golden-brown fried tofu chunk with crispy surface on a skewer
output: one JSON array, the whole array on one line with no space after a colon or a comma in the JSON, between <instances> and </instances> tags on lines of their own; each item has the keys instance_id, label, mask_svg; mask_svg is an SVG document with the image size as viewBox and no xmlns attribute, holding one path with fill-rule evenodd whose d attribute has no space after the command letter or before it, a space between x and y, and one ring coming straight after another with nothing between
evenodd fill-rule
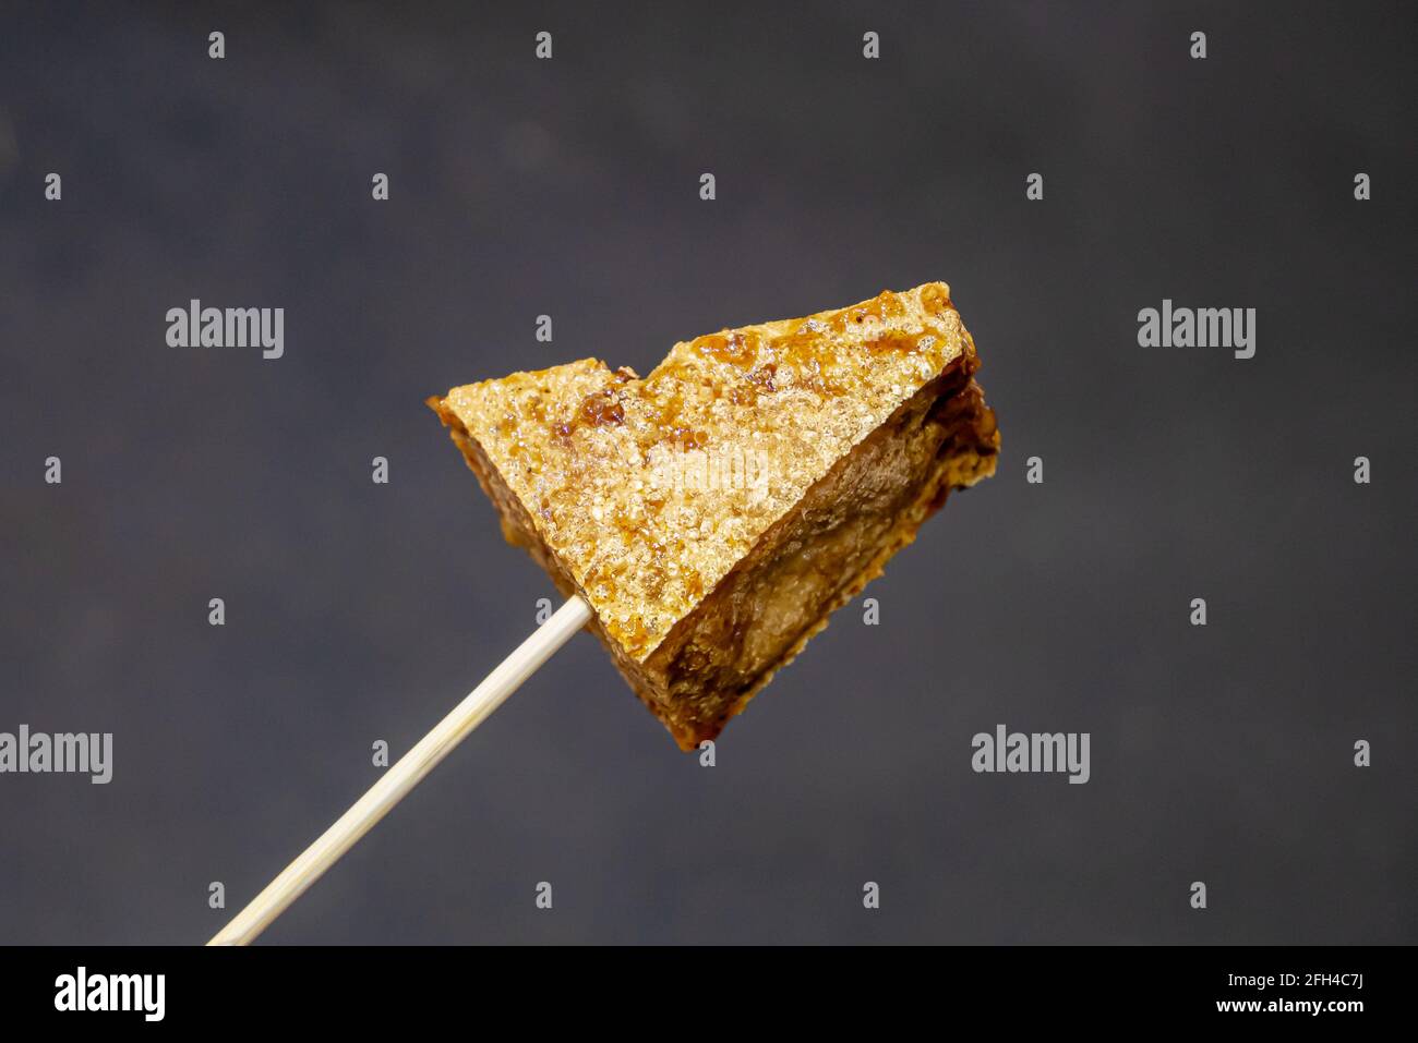
<instances>
[{"instance_id":1,"label":"golden-brown fried tofu chunk with crispy surface on a skewer","mask_svg":"<svg viewBox=\"0 0 1418 1043\"><path fill-rule=\"evenodd\" d=\"M430 398L502 519L683 750L791 662L951 489L994 473L974 342L932 282Z\"/></svg>"}]
</instances>

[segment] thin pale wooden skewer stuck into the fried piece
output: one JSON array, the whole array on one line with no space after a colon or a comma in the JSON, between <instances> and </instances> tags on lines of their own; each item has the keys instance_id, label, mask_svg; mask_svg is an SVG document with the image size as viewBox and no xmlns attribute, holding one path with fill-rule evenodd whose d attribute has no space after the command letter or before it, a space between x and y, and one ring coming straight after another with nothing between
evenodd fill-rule
<instances>
[{"instance_id":1,"label":"thin pale wooden skewer stuck into the fried piece","mask_svg":"<svg viewBox=\"0 0 1418 1043\"><path fill-rule=\"evenodd\" d=\"M536 633L518 645L518 649L467 699L452 709L434 730L418 740L418 744L398 758L384 775L369 788L354 806L340 815L333 826L286 866L281 876L272 880L251 904L237 913L225 927L213 935L208 945L250 945L272 920L299 898L305 889L320 879L354 842L367 833L376 822L384 818L390 808L398 804L418 785L424 775L437 767L468 733L482 724L488 716L502 706L503 700L536 673L552 653L564 645L591 618L590 607L573 597L556 614L537 628Z\"/></svg>"}]
</instances>

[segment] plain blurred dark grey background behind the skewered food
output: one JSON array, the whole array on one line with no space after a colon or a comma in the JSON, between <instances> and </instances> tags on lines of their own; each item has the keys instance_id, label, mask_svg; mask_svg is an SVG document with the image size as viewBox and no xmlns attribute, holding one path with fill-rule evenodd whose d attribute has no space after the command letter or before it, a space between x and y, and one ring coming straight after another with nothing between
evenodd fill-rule
<instances>
[{"instance_id":1,"label":"plain blurred dark grey background behind the skewered food","mask_svg":"<svg viewBox=\"0 0 1418 1043\"><path fill-rule=\"evenodd\" d=\"M206 940L532 629L425 395L937 278L1004 453L881 626L712 771L576 638L265 938L1418 940L1412 7L512 7L6 9L0 730L115 778L0 777L0 941ZM193 296L285 357L169 349ZM1256 357L1140 349L1164 296Z\"/></svg>"}]
</instances>

